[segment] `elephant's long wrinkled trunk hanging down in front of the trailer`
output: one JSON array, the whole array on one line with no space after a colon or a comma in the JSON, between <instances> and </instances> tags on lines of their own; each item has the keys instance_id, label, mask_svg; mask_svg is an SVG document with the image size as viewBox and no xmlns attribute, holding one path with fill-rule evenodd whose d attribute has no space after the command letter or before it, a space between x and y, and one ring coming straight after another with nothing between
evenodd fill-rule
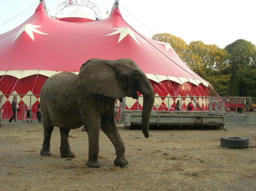
<instances>
[{"instance_id":1,"label":"elephant's long wrinkled trunk hanging down in front of the trailer","mask_svg":"<svg viewBox=\"0 0 256 191\"><path fill-rule=\"evenodd\" d=\"M142 109L141 128L145 138L148 138L150 113L155 101L155 93L151 83L149 87L147 87L147 93L142 93L142 95L143 95L143 109Z\"/></svg>"}]
</instances>

